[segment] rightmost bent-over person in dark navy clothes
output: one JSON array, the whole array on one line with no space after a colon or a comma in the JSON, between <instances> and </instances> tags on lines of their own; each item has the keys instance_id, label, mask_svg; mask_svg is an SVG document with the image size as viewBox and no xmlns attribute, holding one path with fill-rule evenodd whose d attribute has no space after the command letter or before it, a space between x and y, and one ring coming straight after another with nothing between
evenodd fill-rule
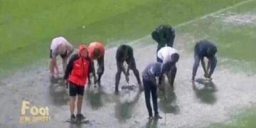
<instances>
[{"instance_id":1,"label":"rightmost bent-over person in dark navy clothes","mask_svg":"<svg viewBox=\"0 0 256 128\"><path fill-rule=\"evenodd\" d=\"M192 82L195 81L196 71L198 69L200 61L203 67L204 77L211 80L211 75L213 75L213 72L217 65L217 58L215 55L217 53L217 47L208 40L202 40L196 43L194 52L195 61L193 64ZM208 58L207 68L204 58Z\"/></svg>"}]
</instances>

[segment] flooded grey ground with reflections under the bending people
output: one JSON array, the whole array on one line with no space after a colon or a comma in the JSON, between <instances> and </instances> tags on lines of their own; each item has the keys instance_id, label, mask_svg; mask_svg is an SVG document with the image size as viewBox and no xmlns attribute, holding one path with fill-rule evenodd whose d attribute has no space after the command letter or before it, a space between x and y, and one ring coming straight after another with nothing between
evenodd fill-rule
<instances>
[{"instance_id":1,"label":"flooded grey ground with reflections under the bending people","mask_svg":"<svg viewBox=\"0 0 256 128\"><path fill-rule=\"evenodd\" d=\"M182 39L181 39L182 38ZM106 52L105 74L102 87L86 87L82 113L89 122L85 124L70 124L65 122L70 118L68 107L68 90L60 83L51 81L48 77L47 65L35 68L27 73L20 73L0 82L0 127L206 127L216 122L229 119L239 110L255 105L256 76L245 73L235 73L223 65L220 58L212 82L198 79L192 84L191 72L193 53L185 51L186 41L190 38L178 37L176 48L180 51L178 73L175 81L175 91L168 90L166 94L159 92L159 113L163 119L158 121L147 119L144 102L144 92L139 92L133 73L130 73L130 84L134 90L124 89L127 83L122 75L119 91L114 95L114 75L116 64L114 60L116 48ZM132 43L137 68L140 73L150 62L156 60L156 45L150 38ZM197 78L202 78L201 68ZM246 94L246 95L245 95ZM21 104L26 100L36 107L48 107L50 122L20 124ZM28 114L30 116L30 114Z\"/></svg>"}]
</instances>

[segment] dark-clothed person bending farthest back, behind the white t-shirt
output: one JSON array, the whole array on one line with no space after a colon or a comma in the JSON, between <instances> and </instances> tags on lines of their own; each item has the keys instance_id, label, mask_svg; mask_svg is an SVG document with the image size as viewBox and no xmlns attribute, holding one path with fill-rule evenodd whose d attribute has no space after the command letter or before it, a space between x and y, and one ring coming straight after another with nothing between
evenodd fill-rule
<instances>
[{"instance_id":1,"label":"dark-clothed person bending farthest back, behind the white t-shirt","mask_svg":"<svg viewBox=\"0 0 256 128\"><path fill-rule=\"evenodd\" d=\"M169 25L160 25L151 33L151 37L158 43L158 52L164 46L174 46L175 31Z\"/></svg>"}]
</instances>

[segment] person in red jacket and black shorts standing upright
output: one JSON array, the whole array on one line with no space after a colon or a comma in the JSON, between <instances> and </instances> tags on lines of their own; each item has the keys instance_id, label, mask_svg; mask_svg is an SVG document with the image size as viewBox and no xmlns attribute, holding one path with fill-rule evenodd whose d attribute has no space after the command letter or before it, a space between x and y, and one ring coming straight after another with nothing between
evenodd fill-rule
<instances>
[{"instance_id":1,"label":"person in red jacket and black shorts standing upright","mask_svg":"<svg viewBox=\"0 0 256 128\"><path fill-rule=\"evenodd\" d=\"M79 53L73 55L65 70L64 80L68 87L69 83L69 93L70 93L70 113L71 122L81 121L85 117L81 114L82 109L82 97L85 90L85 84L87 78L90 75L91 61L87 53L87 48L84 45L79 46ZM75 100L76 97L78 113L75 117Z\"/></svg>"}]
</instances>

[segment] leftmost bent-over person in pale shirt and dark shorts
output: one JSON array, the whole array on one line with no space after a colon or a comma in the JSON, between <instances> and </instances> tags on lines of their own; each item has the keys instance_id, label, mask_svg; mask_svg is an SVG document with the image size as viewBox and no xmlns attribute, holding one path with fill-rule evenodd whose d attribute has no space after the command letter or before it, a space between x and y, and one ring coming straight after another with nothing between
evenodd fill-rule
<instances>
[{"instance_id":1,"label":"leftmost bent-over person in pale shirt and dark shorts","mask_svg":"<svg viewBox=\"0 0 256 128\"><path fill-rule=\"evenodd\" d=\"M73 46L63 37L53 38L50 44L50 75L55 78L59 75L57 56L60 55L63 63L63 73L67 67L68 57L73 53Z\"/></svg>"}]
</instances>

